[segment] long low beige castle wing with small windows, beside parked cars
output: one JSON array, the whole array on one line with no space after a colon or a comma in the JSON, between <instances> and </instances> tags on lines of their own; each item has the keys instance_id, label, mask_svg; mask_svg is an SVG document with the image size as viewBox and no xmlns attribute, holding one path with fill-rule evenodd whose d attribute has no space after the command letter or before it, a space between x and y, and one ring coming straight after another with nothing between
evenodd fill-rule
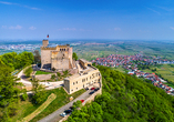
<instances>
[{"instance_id":1,"label":"long low beige castle wing with small windows, beside parked cars","mask_svg":"<svg viewBox=\"0 0 174 122\"><path fill-rule=\"evenodd\" d=\"M102 75L91 62L80 59L79 65L82 69L79 73L64 79L64 89L68 93L71 94L90 87L102 88Z\"/></svg>"}]
</instances>

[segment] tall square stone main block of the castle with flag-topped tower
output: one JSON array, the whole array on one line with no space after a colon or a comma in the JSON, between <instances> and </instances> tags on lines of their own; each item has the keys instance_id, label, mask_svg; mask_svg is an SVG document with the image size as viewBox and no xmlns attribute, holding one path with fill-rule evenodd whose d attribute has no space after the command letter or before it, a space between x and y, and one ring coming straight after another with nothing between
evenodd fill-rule
<instances>
[{"instance_id":1,"label":"tall square stone main block of the castle with flag-topped tower","mask_svg":"<svg viewBox=\"0 0 174 122\"><path fill-rule=\"evenodd\" d=\"M69 44L49 44L49 40L42 41L41 69L64 71L73 68L72 62L72 48Z\"/></svg>"}]
</instances>

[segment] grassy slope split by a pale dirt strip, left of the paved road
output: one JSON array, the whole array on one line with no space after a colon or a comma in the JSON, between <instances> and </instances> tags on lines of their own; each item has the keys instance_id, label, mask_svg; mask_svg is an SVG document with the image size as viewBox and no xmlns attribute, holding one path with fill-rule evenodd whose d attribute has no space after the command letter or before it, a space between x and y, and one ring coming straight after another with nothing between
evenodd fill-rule
<instances>
[{"instance_id":1,"label":"grassy slope split by a pale dirt strip, left of the paved road","mask_svg":"<svg viewBox=\"0 0 174 122\"><path fill-rule=\"evenodd\" d=\"M43 116L47 116L48 114L54 112L55 110L58 110L59 108L63 106L64 104L66 104L69 102L69 98L73 96L74 99L76 96L79 96L80 94L82 94L83 92L85 92L84 89L69 95L63 88L58 88L54 90L48 90L45 91L47 96L49 96L51 93L54 93L57 95L55 100L53 100L39 115L37 115L35 118L33 118L30 122L35 122L40 119L42 119ZM23 118L25 118L27 115L31 114L33 111L35 111L40 105L34 105L31 101L31 99L28 99L27 101L19 101L18 104L18 111L17 111L17 115L14 115L13 118L11 118L11 120L13 120L13 122L17 122L17 120L22 120Z\"/></svg>"}]
</instances>

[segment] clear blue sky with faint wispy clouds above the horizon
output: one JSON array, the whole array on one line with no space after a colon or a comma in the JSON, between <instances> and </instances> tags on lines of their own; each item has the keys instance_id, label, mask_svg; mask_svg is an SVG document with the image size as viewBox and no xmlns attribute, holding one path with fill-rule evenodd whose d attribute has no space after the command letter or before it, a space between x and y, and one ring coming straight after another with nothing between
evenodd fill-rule
<instances>
[{"instance_id":1,"label":"clear blue sky with faint wispy clouds above the horizon","mask_svg":"<svg viewBox=\"0 0 174 122\"><path fill-rule=\"evenodd\" d=\"M0 0L0 40L174 40L174 0Z\"/></svg>"}]
</instances>

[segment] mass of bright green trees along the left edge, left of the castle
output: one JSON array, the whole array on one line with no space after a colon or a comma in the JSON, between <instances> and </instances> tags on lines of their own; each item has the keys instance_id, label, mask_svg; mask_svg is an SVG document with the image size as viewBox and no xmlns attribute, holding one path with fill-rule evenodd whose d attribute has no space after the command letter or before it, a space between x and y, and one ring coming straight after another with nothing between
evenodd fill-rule
<instances>
[{"instance_id":1,"label":"mass of bright green trees along the left edge, left of the castle","mask_svg":"<svg viewBox=\"0 0 174 122\"><path fill-rule=\"evenodd\" d=\"M30 65L33 61L31 52L19 54L10 52L0 55L0 122L12 121L10 118L17 114L20 93L23 93L23 99L28 96L24 89L19 89L22 84L16 82L11 72Z\"/></svg>"}]
</instances>

